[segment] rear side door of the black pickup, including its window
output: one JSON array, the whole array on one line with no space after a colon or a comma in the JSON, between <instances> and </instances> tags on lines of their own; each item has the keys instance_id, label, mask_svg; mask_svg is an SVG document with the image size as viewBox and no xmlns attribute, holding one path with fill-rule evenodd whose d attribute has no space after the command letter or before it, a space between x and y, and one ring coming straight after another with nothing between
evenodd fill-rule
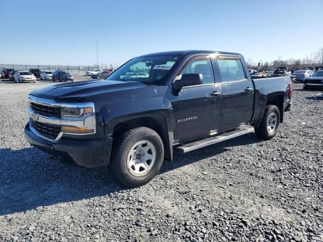
<instances>
[{"instance_id":1,"label":"rear side door of the black pickup, including its window","mask_svg":"<svg viewBox=\"0 0 323 242\"><path fill-rule=\"evenodd\" d=\"M237 128L252 118L254 88L244 65L239 55L216 57L222 90L222 131Z\"/></svg>"}]
</instances>

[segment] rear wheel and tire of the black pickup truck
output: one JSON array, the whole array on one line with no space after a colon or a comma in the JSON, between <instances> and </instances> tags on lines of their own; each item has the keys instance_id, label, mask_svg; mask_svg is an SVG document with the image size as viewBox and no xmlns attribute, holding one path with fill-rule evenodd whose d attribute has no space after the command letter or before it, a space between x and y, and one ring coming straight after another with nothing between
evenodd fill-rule
<instances>
[{"instance_id":1,"label":"rear wheel and tire of the black pickup truck","mask_svg":"<svg viewBox=\"0 0 323 242\"><path fill-rule=\"evenodd\" d=\"M274 138L279 129L280 116L281 115L277 106L266 106L259 127L254 128L256 135L264 140Z\"/></svg>"}]
</instances>

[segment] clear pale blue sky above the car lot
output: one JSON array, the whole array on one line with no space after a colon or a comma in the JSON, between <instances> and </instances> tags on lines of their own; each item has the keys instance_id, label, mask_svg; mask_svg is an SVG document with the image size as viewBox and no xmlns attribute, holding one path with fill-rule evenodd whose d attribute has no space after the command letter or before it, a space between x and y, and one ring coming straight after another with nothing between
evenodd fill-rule
<instances>
[{"instance_id":1,"label":"clear pale blue sky above the car lot","mask_svg":"<svg viewBox=\"0 0 323 242\"><path fill-rule=\"evenodd\" d=\"M323 0L6 0L1 9L0 64L93 65L96 39L106 65L165 50L264 62L323 47Z\"/></svg>"}]
</instances>

